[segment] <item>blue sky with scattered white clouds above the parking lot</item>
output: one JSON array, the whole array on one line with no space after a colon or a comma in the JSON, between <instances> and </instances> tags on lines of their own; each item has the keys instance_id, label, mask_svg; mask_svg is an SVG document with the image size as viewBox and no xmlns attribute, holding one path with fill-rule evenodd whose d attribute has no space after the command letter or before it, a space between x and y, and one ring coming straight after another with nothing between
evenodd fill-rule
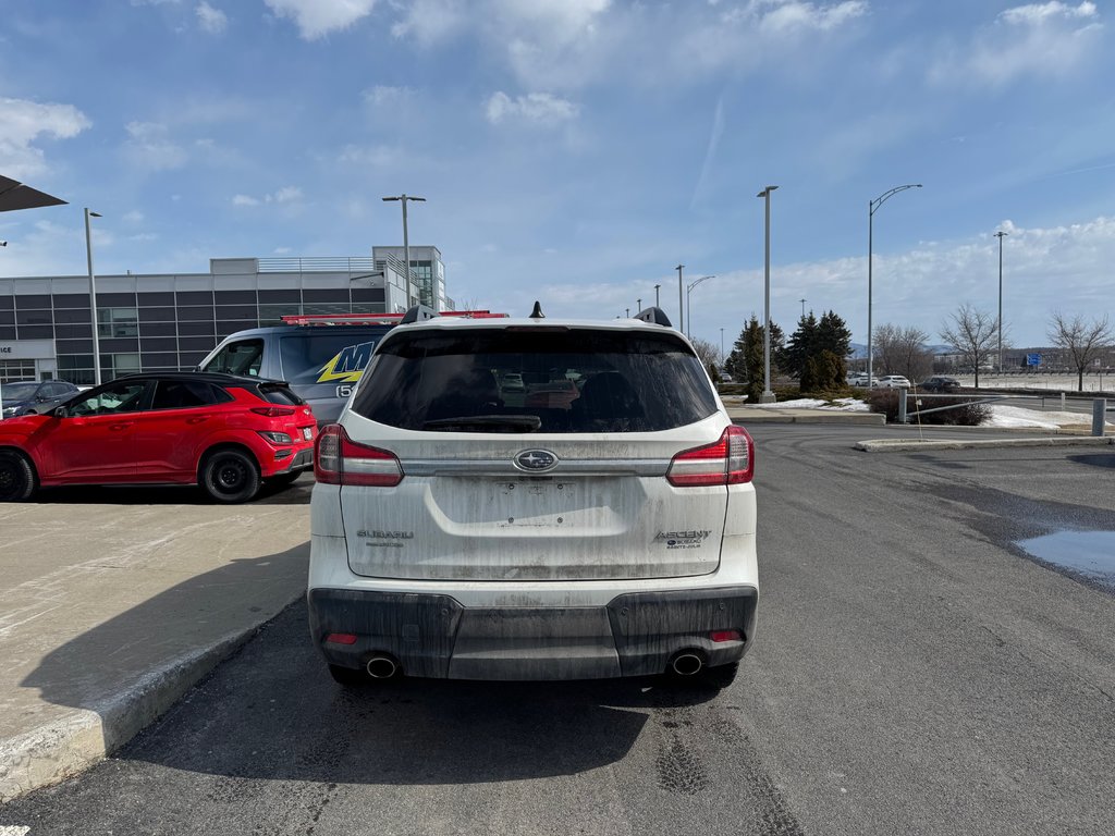
<instances>
[{"instance_id":1,"label":"blue sky with scattered white clouds above the parking lot","mask_svg":"<svg viewBox=\"0 0 1115 836\"><path fill-rule=\"evenodd\" d=\"M0 0L0 174L71 205L0 215L0 275L205 272L410 240L459 301L614 317L677 271L691 331L834 310L937 342L1104 317L1115 265L1115 1Z\"/></svg>"}]
</instances>

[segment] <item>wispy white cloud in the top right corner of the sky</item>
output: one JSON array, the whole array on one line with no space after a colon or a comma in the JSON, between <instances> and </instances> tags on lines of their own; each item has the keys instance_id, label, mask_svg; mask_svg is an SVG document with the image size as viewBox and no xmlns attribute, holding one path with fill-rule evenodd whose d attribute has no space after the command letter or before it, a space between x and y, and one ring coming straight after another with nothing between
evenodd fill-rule
<instances>
[{"instance_id":1,"label":"wispy white cloud in the top right corner of the sky","mask_svg":"<svg viewBox=\"0 0 1115 836\"><path fill-rule=\"evenodd\" d=\"M1025 76L1059 77L1092 56L1103 23L1095 3L1053 0L1007 9L963 47L949 43L930 69L930 81L1002 87Z\"/></svg>"}]
</instances>

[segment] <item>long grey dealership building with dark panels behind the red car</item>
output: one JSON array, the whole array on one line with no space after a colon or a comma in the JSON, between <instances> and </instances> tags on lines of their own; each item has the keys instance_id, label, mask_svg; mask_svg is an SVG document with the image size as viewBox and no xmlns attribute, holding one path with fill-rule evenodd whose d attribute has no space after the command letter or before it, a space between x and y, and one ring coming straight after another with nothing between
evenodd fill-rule
<instances>
[{"instance_id":1,"label":"long grey dealership building with dark panels behind the red car","mask_svg":"<svg viewBox=\"0 0 1115 836\"><path fill-rule=\"evenodd\" d=\"M289 314L449 310L436 246L356 257L211 259L207 273L96 275L101 379L195 367L235 331ZM0 382L94 382L88 275L0 278Z\"/></svg>"}]
</instances>

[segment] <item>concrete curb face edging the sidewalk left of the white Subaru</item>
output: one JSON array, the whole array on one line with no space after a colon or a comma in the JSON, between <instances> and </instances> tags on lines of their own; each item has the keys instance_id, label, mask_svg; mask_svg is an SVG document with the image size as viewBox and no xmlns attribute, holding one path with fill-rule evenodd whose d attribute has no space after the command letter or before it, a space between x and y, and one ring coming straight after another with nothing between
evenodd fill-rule
<instances>
[{"instance_id":1,"label":"concrete curb face edging the sidewalk left of the white Subaru","mask_svg":"<svg viewBox=\"0 0 1115 836\"><path fill-rule=\"evenodd\" d=\"M0 804L72 777L112 755L164 715L273 618L227 633L206 648L146 673L95 708L76 708L54 722L0 740Z\"/></svg>"}]
</instances>

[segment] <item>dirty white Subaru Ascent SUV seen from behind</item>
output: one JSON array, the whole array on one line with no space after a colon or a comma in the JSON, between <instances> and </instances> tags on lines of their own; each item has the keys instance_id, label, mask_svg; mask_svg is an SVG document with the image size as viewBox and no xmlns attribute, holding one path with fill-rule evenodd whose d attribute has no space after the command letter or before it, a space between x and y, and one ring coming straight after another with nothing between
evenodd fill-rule
<instances>
[{"instance_id":1,"label":"dirty white Subaru Ascent SUV seen from behind","mask_svg":"<svg viewBox=\"0 0 1115 836\"><path fill-rule=\"evenodd\" d=\"M658 309L407 319L317 444L333 678L728 684L755 638L755 451L689 341Z\"/></svg>"}]
</instances>

